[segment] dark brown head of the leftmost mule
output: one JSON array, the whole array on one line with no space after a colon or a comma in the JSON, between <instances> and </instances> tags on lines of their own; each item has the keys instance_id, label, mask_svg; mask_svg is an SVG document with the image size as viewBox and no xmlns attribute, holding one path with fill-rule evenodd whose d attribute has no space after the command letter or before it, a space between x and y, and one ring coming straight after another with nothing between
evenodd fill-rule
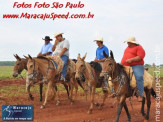
<instances>
[{"instance_id":1,"label":"dark brown head of the leftmost mule","mask_svg":"<svg viewBox=\"0 0 163 122\"><path fill-rule=\"evenodd\" d=\"M15 62L15 66L14 66L12 75L13 75L13 77L17 77L18 74L20 74L23 71L23 69L26 68L27 64L26 64L25 59L20 58L17 54L14 55L14 57L16 58L17 61Z\"/></svg>"}]
</instances>

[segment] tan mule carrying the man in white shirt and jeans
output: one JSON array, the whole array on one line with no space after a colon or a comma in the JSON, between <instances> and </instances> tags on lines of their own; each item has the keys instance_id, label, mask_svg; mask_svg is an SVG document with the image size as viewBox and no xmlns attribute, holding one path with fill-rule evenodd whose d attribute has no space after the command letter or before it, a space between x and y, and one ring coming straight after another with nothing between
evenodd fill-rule
<instances>
[{"instance_id":1,"label":"tan mule carrying the man in white shirt and jeans","mask_svg":"<svg viewBox=\"0 0 163 122\"><path fill-rule=\"evenodd\" d=\"M51 59L49 59L49 57L32 58L30 55L28 55L28 56L29 57L26 57L26 59L28 59L28 63L27 63L28 78L35 79L35 78L37 78L38 73L41 73L43 75L43 77L47 79L48 88L46 90L44 103L40 107L41 109L43 109L43 108L45 108L45 105L47 103L49 90L52 90L53 93L56 95L56 89L54 89L52 87L55 87L56 84L59 82L61 70L63 68L63 61L60 57L56 56L55 57L56 61L58 61L60 64L62 64L62 66L58 65L57 67L55 67L55 65L53 64ZM71 62L71 65L72 65L72 62ZM75 67L73 67L73 68L70 68L70 67L73 67L73 66L69 66L67 71L70 71L75 68ZM74 71L71 71L71 73L75 74ZM71 78L71 77L72 77L72 74L67 74L66 80L68 80L70 82L62 82L62 83L68 84L69 93L70 93L69 100L71 103L73 103L74 101L72 100L72 91L73 91L73 86L75 84L74 83L75 81L73 81L73 78ZM76 86L77 85L75 85L75 87Z\"/></svg>"}]
</instances>

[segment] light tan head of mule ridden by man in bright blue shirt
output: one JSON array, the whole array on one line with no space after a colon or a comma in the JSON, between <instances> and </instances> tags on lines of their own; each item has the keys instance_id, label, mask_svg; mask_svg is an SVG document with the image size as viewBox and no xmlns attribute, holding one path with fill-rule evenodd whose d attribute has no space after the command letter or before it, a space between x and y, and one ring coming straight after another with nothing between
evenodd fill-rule
<instances>
[{"instance_id":1,"label":"light tan head of mule ridden by man in bright blue shirt","mask_svg":"<svg viewBox=\"0 0 163 122\"><path fill-rule=\"evenodd\" d=\"M84 61L86 58L86 55L87 54L85 54L83 58L80 58L80 54L78 54L77 62L76 62L76 74L75 74L76 80L82 80L84 70L86 69L86 65Z\"/></svg>"}]
</instances>

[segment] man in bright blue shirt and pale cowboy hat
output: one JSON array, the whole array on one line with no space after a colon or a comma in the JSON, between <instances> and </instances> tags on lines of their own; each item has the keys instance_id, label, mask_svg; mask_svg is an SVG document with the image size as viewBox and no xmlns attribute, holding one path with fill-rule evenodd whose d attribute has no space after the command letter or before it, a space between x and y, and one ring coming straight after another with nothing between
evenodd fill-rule
<instances>
[{"instance_id":1,"label":"man in bright blue shirt and pale cowboy hat","mask_svg":"<svg viewBox=\"0 0 163 122\"><path fill-rule=\"evenodd\" d=\"M96 49L96 58L95 58L95 62L98 62L101 64L103 64L103 62L105 61L105 56L103 54L103 51L105 51L105 53L109 56L109 50L108 48L103 44L103 38L102 37L98 37L96 40L94 40L98 46L98 48ZM103 90L107 90L108 88L108 81L104 80L104 85L103 85Z\"/></svg>"}]
</instances>

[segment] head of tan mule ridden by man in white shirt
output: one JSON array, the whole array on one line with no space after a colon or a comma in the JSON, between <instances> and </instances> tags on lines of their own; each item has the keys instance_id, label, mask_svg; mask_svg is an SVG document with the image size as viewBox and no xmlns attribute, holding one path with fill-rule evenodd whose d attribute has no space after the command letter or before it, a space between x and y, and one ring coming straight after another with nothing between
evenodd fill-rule
<instances>
[{"instance_id":1,"label":"head of tan mule ridden by man in white shirt","mask_svg":"<svg viewBox=\"0 0 163 122\"><path fill-rule=\"evenodd\" d=\"M24 56L27 60L28 60L28 63L27 63L27 69L28 69L28 72L27 72L27 75L28 75L28 79L29 80L35 80L38 76L38 63L35 61L34 58L32 58L30 55L28 55L29 57L27 56Z\"/></svg>"}]
</instances>

